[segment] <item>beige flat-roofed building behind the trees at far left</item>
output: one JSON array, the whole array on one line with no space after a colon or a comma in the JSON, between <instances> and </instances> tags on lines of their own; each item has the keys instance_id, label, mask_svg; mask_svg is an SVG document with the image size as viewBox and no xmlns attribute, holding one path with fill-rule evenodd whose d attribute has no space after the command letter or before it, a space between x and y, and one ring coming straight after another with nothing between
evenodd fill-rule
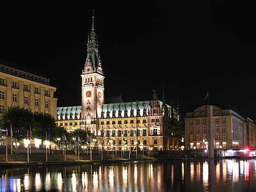
<instances>
[{"instance_id":1,"label":"beige flat-roofed building behind the trees at far left","mask_svg":"<svg viewBox=\"0 0 256 192\"><path fill-rule=\"evenodd\" d=\"M50 78L0 60L0 113L9 106L19 106L33 113L51 114L57 119L55 91L56 88L50 85ZM0 145L4 143L4 134L0 132Z\"/></svg>"}]
</instances>

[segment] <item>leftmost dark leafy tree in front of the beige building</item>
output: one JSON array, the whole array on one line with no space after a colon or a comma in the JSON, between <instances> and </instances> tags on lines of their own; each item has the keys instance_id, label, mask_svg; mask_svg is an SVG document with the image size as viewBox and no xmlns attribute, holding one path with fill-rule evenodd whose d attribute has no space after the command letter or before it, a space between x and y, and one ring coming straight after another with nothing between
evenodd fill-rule
<instances>
[{"instance_id":1,"label":"leftmost dark leafy tree in front of the beige building","mask_svg":"<svg viewBox=\"0 0 256 192\"><path fill-rule=\"evenodd\" d=\"M13 137L15 139L27 138L27 130L33 128L35 121L31 110L21 108L19 106L8 107L0 117L2 121L2 128L8 130L8 135L11 135L11 125L13 130Z\"/></svg>"}]
</instances>

